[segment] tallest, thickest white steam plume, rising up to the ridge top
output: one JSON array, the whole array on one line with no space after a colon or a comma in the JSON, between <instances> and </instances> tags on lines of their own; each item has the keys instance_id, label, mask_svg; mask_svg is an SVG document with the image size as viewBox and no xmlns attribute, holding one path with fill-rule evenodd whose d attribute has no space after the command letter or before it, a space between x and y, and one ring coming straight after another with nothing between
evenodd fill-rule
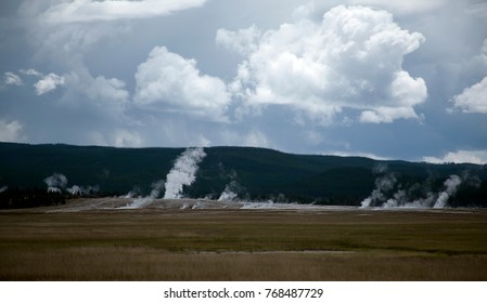
<instances>
[{"instance_id":1,"label":"tallest, thickest white steam plume, rising up to the ridge top","mask_svg":"<svg viewBox=\"0 0 487 303\"><path fill-rule=\"evenodd\" d=\"M197 164L206 156L201 147L188 148L176 159L176 163L166 176L165 199L182 198L183 186L191 185L196 179Z\"/></svg>"}]
</instances>

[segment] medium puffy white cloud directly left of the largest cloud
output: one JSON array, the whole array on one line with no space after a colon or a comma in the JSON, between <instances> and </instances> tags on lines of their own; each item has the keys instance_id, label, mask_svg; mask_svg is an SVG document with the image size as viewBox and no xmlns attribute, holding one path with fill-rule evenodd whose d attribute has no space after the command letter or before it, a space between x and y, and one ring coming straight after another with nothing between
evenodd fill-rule
<instances>
[{"instance_id":1,"label":"medium puffy white cloud directly left of the largest cloud","mask_svg":"<svg viewBox=\"0 0 487 303\"><path fill-rule=\"evenodd\" d=\"M156 110L185 113L212 121L227 121L230 103L219 78L201 75L196 61L156 47L136 73L134 102Z\"/></svg>"}]
</instances>

